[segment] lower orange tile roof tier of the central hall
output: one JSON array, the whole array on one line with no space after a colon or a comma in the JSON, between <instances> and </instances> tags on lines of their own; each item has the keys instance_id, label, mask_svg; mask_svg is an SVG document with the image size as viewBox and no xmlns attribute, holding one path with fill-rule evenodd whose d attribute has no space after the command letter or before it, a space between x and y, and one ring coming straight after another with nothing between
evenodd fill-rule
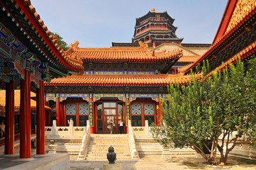
<instances>
[{"instance_id":1,"label":"lower orange tile roof tier of the central hall","mask_svg":"<svg viewBox=\"0 0 256 170\"><path fill-rule=\"evenodd\" d=\"M174 74L155 74L155 75L72 75L52 79L45 86L56 85L169 85L179 81L179 84L187 84L190 76Z\"/></svg>"}]
</instances>

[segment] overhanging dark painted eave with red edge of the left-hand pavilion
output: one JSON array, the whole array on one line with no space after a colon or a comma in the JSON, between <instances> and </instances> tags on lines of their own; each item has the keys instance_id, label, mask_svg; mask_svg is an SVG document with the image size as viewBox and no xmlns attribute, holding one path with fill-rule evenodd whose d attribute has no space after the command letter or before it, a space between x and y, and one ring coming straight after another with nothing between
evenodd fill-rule
<instances>
[{"instance_id":1,"label":"overhanging dark painted eave with red edge of the left-hand pavilion","mask_svg":"<svg viewBox=\"0 0 256 170\"><path fill-rule=\"evenodd\" d=\"M67 76L69 72L84 72L82 61L70 59L60 49L57 39L50 35L50 30L29 0L3 0L0 1L0 7L0 22L35 55L30 60L48 64L51 78Z\"/></svg>"}]
</instances>

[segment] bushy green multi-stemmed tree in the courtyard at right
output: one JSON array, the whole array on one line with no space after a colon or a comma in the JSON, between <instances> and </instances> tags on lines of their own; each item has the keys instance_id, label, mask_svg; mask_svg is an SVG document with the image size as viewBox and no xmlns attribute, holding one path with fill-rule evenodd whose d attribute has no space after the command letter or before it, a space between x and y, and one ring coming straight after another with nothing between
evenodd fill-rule
<instances>
[{"instance_id":1,"label":"bushy green multi-stemmed tree in the courtyard at right","mask_svg":"<svg viewBox=\"0 0 256 170\"><path fill-rule=\"evenodd\" d=\"M225 164L242 135L255 142L256 60L246 76L241 61L211 77L207 68L208 63L200 80L191 73L193 83L169 86L172 98L162 102L164 123L152 128L152 134L162 145L191 147L209 164Z\"/></svg>"}]
</instances>

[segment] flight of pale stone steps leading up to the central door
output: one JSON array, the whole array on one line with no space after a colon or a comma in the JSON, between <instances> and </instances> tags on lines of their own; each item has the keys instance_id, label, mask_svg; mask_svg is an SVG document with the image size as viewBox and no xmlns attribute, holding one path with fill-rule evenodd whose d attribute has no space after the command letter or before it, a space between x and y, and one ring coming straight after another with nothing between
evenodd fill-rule
<instances>
[{"instance_id":1,"label":"flight of pale stone steps leading up to the central door","mask_svg":"<svg viewBox=\"0 0 256 170\"><path fill-rule=\"evenodd\" d=\"M108 147L115 149L116 159L131 159L128 135L91 134L91 142L87 152L88 160L107 159Z\"/></svg>"}]
</instances>

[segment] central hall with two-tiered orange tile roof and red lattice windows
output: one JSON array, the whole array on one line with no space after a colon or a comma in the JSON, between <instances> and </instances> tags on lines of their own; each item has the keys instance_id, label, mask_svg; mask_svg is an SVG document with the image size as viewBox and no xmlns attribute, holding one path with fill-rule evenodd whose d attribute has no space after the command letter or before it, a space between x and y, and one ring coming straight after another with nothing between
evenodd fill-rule
<instances>
[{"instance_id":1,"label":"central hall with two-tiered orange tile roof and red lattice windows","mask_svg":"<svg viewBox=\"0 0 256 170\"><path fill-rule=\"evenodd\" d=\"M58 125L68 125L72 118L74 125L84 126L89 120L91 132L108 133L110 120L158 124L169 82L181 79L168 74L182 57L180 49L157 52L143 42L140 47L85 48L75 42L65 55L81 60L84 74L45 83L46 100L56 103Z\"/></svg>"}]
</instances>

